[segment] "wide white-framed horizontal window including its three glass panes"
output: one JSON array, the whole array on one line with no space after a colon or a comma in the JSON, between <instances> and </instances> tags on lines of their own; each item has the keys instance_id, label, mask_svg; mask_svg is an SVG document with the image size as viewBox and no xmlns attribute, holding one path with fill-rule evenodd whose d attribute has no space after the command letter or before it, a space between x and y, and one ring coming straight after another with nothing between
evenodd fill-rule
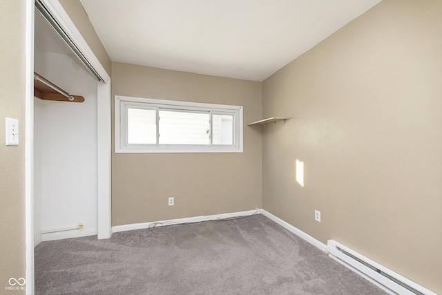
<instances>
[{"instance_id":1,"label":"wide white-framed horizontal window including its three glass panes","mask_svg":"<svg viewBox=\"0 0 442 295\"><path fill-rule=\"evenodd\" d=\"M242 106L115 96L116 153L241 153Z\"/></svg>"}]
</instances>

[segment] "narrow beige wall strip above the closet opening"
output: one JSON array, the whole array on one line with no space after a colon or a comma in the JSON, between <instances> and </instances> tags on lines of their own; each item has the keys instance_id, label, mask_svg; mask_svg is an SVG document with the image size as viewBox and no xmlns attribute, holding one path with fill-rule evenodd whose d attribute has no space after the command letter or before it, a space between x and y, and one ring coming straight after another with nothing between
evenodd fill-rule
<instances>
[{"instance_id":1,"label":"narrow beige wall strip above the closet opening","mask_svg":"<svg viewBox=\"0 0 442 295\"><path fill-rule=\"evenodd\" d=\"M90 49L102 64L109 76L111 76L111 58L109 57L102 41L99 39L95 28L90 23L89 17L86 14L83 6L79 0L59 0L70 19L73 21L81 36L86 40Z\"/></svg>"}]
</instances>

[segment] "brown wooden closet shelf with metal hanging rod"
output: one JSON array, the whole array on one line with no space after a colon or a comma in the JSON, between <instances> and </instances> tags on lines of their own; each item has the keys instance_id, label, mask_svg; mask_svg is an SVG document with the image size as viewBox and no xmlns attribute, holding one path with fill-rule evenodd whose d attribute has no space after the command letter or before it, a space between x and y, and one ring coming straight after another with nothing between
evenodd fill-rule
<instances>
[{"instance_id":1,"label":"brown wooden closet shelf with metal hanging rod","mask_svg":"<svg viewBox=\"0 0 442 295\"><path fill-rule=\"evenodd\" d=\"M70 95L59 86L34 72L34 96L44 100L57 100L59 102L84 102L84 97Z\"/></svg>"}]
</instances>

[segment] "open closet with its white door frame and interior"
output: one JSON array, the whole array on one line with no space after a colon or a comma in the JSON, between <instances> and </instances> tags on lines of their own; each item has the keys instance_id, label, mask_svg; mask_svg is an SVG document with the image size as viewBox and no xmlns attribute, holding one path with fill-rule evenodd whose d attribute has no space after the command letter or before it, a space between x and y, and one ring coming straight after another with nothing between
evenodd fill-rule
<instances>
[{"instance_id":1,"label":"open closet with its white door frame and interior","mask_svg":"<svg viewBox=\"0 0 442 295\"><path fill-rule=\"evenodd\" d=\"M67 32L88 65L36 6ZM44 96L37 91L50 90L39 89L34 72L69 97L57 90L54 94L64 100L37 98ZM73 102L83 97L82 102L70 104L71 96ZM35 245L72 235L112 234L111 77L58 0L26 1L25 150L26 294L33 294Z\"/></svg>"}]
</instances>

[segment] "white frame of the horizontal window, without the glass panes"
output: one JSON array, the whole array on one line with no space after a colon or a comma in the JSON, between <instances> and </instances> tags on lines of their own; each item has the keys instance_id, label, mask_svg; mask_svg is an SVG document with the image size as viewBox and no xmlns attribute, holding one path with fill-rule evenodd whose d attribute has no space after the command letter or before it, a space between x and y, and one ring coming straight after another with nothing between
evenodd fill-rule
<instances>
[{"instance_id":1,"label":"white frame of the horizontal window, without the glass panes","mask_svg":"<svg viewBox=\"0 0 442 295\"><path fill-rule=\"evenodd\" d=\"M131 106L147 109L170 108L180 111L210 112L211 115L233 115L233 145L158 144L158 140L157 144L128 144L126 109ZM212 129L212 123L210 129ZM212 130L210 132L212 134ZM242 153L242 135L242 106L115 95L115 153ZM212 138L210 142L212 142Z\"/></svg>"}]
</instances>

